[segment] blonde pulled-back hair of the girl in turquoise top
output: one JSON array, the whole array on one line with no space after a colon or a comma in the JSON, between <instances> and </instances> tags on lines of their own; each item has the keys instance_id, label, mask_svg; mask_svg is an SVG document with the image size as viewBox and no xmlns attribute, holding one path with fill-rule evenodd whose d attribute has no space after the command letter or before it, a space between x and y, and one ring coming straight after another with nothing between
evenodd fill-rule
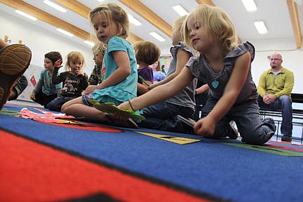
<instances>
[{"instance_id":1,"label":"blonde pulled-back hair of the girl in turquoise top","mask_svg":"<svg viewBox=\"0 0 303 202\"><path fill-rule=\"evenodd\" d=\"M105 16L107 22L116 23L119 33L116 36L120 36L123 39L128 38L129 35L129 21L128 15L123 8L115 3L101 4L95 7L89 13L90 24L93 25L93 20L100 15Z\"/></svg>"}]
</instances>

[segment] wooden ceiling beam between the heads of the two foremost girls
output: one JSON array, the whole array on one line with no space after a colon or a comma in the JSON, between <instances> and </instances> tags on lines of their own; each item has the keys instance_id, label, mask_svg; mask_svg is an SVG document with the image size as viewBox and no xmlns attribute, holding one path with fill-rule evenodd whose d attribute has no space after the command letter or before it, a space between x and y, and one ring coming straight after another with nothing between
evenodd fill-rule
<instances>
[{"instance_id":1,"label":"wooden ceiling beam between the heads of the two foremost girls","mask_svg":"<svg viewBox=\"0 0 303 202\"><path fill-rule=\"evenodd\" d=\"M164 34L173 36L173 27L171 27L166 21L156 15L152 10L147 8L139 0L119 0L122 4L133 10L135 13L140 15L142 18L150 22L156 28L161 30Z\"/></svg>"}]
</instances>

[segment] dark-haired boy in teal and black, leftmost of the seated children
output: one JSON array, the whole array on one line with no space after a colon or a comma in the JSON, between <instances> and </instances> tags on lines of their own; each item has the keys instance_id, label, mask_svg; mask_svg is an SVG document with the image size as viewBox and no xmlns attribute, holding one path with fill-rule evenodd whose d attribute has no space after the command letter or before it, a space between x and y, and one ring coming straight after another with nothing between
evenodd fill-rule
<instances>
[{"instance_id":1,"label":"dark-haired boy in teal and black, leftmost of the seated children","mask_svg":"<svg viewBox=\"0 0 303 202\"><path fill-rule=\"evenodd\" d=\"M45 69L42 70L39 81L32 95L30 95L30 98L34 100L34 102L43 105L45 108L47 108L46 105L48 102L57 97L58 91L62 88L62 83L54 85L52 82L53 69L57 60L62 60L61 54L57 51L52 51L44 55Z\"/></svg>"}]
</instances>

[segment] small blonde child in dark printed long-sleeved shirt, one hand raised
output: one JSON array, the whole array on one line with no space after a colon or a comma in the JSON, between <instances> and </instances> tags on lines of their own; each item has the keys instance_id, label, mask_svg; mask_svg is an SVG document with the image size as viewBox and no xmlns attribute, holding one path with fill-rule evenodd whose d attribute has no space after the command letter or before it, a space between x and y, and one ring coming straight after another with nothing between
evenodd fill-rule
<instances>
[{"instance_id":1,"label":"small blonde child in dark printed long-sleeved shirt, one hand raised","mask_svg":"<svg viewBox=\"0 0 303 202\"><path fill-rule=\"evenodd\" d=\"M62 59L55 62L52 82L54 84L62 82L62 90L55 100L48 102L48 105L46 105L48 109L60 112L65 102L81 96L82 91L88 87L88 75L82 72L84 63L82 53L72 51L67 55L66 72L58 75L58 70L62 67Z\"/></svg>"}]
</instances>

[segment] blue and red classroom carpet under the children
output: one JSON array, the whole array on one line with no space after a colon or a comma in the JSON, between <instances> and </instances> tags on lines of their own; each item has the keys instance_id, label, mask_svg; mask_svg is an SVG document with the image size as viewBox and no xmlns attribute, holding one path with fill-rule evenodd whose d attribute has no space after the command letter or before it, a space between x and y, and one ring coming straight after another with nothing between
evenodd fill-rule
<instances>
[{"instance_id":1,"label":"blue and red classroom carpet under the children","mask_svg":"<svg viewBox=\"0 0 303 202\"><path fill-rule=\"evenodd\" d=\"M302 201L300 145L13 113L25 107L0 113L0 201Z\"/></svg>"}]
</instances>

